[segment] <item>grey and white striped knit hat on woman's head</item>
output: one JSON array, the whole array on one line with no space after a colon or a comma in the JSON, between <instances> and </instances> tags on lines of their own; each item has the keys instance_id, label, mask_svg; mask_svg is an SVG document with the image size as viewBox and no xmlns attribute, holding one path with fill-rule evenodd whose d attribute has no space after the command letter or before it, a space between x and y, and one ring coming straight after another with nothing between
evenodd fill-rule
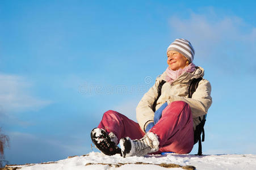
<instances>
[{"instance_id":1,"label":"grey and white striped knit hat on woman's head","mask_svg":"<svg viewBox=\"0 0 256 170\"><path fill-rule=\"evenodd\" d=\"M195 49L191 45L190 41L185 39L176 39L173 43L171 43L170 46L167 48L167 52L170 50L175 50L181 54L183 54L184 57L190 61L190 63L194 59L195 55Z\"/></svg>"}]
</instances>

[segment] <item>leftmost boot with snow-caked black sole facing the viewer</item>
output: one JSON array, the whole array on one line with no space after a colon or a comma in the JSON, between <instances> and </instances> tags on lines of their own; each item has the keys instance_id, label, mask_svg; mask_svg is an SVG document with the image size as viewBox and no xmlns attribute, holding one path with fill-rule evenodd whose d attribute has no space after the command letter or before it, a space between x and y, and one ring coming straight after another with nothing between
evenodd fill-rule
<instances>
[{"instance_id":1,"label":"leftmost boot with snow-caked black sole facing the viewer","mask_svg":"<svg viewBox=\"0 0 256 170\"><path fill-rule=\"evenodd\" d=\"M114 133L107 134L104 129L94 128L91 130L91 141L105 155L121 155L121 149L116 146L117 137Z\"/></svg>"}]
</instances>

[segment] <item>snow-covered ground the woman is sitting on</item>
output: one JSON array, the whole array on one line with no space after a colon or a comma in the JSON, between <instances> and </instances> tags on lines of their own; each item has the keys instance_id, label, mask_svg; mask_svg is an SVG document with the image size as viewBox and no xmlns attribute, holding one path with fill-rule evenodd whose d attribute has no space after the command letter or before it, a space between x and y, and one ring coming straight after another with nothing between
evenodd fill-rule
<instances>
[{"instance_id":1,"label":"snow-covered ground the woman is sitting on","mask_svg":"<svg viewBox=\"0 0 256 170\"><path fill-rule=\"evenodd\" d=\"M158 164L177 164L171 169L186 169L188 165L196 170L213 169L256 169L256 155L147 155L144 157L132 156L122 158L119 155L107 156L99 152L90 152L83 156L74 156L57 162L48 162L42 164L12 165L26 169L146 169L154 170L166 169ZM187 167L185 167L187 166ZM10 166L9 166L10 167ZM175 166L174 166L175 167Z\"/></svg>"}]
</instances>

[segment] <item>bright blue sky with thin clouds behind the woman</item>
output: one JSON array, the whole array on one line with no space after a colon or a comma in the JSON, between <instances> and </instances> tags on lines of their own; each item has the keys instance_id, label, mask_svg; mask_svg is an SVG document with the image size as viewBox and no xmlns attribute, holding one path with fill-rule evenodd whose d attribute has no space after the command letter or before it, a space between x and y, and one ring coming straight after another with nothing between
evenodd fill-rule
<instances>
[{"instance_id":1,"label":"bright blue sky with thin clouds behind the woman","mask_svg":"<svg viewBox=\"0 0 256 170\"><path fill-rule=\"evenodd\" d=\"M11 164L91 151L109 109L136 105L191 41L212 84L204 154L256 154L255 1L0 1L0 126ZM93 150L97 151L97 150ZM197 151L195 145L192 154Z\"/></svg>"}]
</instances>

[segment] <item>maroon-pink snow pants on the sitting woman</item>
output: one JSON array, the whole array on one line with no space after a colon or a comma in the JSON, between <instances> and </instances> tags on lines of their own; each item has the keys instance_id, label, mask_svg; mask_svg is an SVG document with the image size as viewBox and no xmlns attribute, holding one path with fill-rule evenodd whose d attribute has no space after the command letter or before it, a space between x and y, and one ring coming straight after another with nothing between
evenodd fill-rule
<instances>
[{"instance_id":1,"label":"maroon-pink snow pants on the sitting woman","mask_svg":"<svg viewBox=\"0 0 256 170\"><path fill-rule=\"evenodd\" d=\"M139 124L116 111L107 111L103 114L98 128L111 131L118 141L124 137L140 139L145 132ZM150 129L158 136L160 152L175 152L188 154L194 146L194 130L191 109L184 101L173 101L163 109L162 117L156 125Z\"/></svg>"}]
</instances>

